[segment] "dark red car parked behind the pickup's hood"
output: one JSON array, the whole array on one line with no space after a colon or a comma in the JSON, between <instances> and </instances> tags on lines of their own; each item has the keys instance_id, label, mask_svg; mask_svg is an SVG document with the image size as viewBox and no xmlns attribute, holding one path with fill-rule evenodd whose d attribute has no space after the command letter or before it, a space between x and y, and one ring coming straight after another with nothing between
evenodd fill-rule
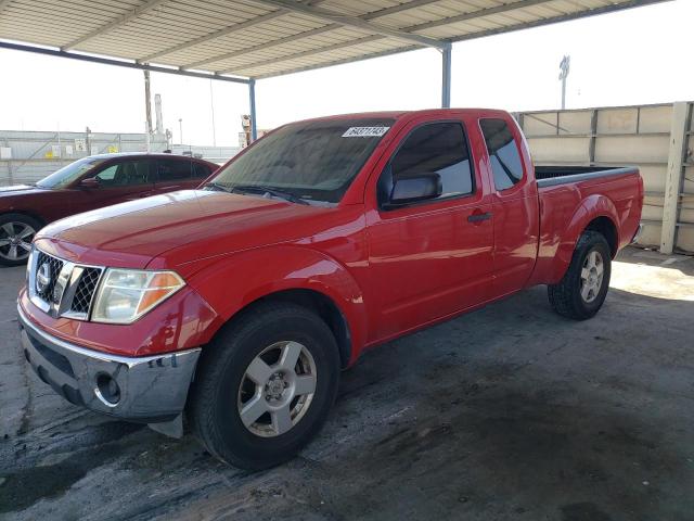
<instances>
[{"instance_id":1,"label":"dark red car parked behind the pickup's hood","mask_svg":"<svg viewBox=\"0 0 694 521\"><path fill-rule=\"evenodd\" d=\"M0 264L25 263L34 234L53 220L195 188L217 168L185 155L103 154L70 163L35 185L0 187Z\"/></svg>"}]
</instances>

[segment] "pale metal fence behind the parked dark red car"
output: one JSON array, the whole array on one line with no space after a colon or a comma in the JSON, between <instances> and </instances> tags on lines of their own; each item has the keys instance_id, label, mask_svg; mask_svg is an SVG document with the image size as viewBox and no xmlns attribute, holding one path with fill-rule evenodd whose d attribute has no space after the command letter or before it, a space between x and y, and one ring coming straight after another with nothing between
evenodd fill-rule
<instances>
[{"instance_id":1,"label":"pale metal fence behind the parked dark red car","mask_svg":"<svg viewBox=\"0 0 694 521\"><path fill-rule=\"evenodd\" d=\"M0 130L0 186L34 182L73 161L108 152L144 152L144 134L46 132ZM150 150L163 152L166 138L154 135ZM224 163L241 150L236 147L171 145L174 153L201 154L214 163Z\"/></svg>"}]
</instances>

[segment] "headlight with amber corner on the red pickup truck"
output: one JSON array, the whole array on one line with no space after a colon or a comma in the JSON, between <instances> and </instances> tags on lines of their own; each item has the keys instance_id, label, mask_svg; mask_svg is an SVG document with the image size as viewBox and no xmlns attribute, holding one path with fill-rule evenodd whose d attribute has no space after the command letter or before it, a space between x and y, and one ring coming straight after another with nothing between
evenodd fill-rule
<instances>
[{"instance_id":1,"label":"headlight with amber corner on the red pickup truck","mask_svg":"<svg viewBox=\"0 0 694 521\"><path fill-rule=\"evenodd\" d=\"M92 320L133 322L183 285L183 279L174 271L108 268L94 301Z\"/></svg>"}]
</instances>

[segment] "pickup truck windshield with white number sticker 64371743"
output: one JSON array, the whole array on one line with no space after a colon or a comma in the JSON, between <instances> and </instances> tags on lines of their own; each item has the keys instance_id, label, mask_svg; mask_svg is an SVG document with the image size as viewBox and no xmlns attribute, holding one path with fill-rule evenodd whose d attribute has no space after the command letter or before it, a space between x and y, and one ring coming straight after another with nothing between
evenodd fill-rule
<instances>
[{"instance_id":1,"label":"pickup truck windshield with white number sticker 64371743","mask_svg":"<svg viewBox=\"0 0 694 521\"><path fill-rule=\"evenodd\" d=\"M337 203L391 125L374 118L287 125L220 169L208 187Z\"/></svg>"}]
</instances>

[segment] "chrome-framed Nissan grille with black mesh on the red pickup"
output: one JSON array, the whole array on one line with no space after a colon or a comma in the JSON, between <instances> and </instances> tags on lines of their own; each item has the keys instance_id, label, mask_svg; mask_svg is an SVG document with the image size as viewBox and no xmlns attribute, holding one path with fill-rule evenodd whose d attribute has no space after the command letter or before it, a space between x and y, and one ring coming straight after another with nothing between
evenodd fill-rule
<instances>
[{"instance_id":1,"label":"chrome-framed Nissan grille with black mesh on the red pickup","mask_svg":"<svg viewBox=\"0 0 694 521\"><path fill-rule=\"evenodd\" d=\"M34 304L52 317L88 320L104 270L82 266L35 250L30 259L28 290Z\"/></svg>"}]
</instances>

